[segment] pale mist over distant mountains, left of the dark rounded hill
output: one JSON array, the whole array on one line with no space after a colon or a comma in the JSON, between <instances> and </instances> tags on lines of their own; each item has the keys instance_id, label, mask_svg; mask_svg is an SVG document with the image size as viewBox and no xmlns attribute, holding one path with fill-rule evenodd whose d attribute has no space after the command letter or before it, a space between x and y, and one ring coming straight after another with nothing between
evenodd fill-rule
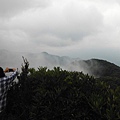
<instances>
[{"instance_id":1,"label":"pale mist over distant mountains, left of the dark rounded hill","mask_svg":"<svg viewBox=\"0 0 120 120\"><path fill-rule=\"evenodd\" d=\"M68 56L51 55L47 52L42 53L18 53L7 50L0 50L0 65L5 69L6 67L15 67L21 69L23 58L26 58L30 64L30 68L37 69L38 67L47 67L53 69L60 67L69 71L82 71L90 73L87 64L80 58L70 58ZM93 61L91 61L91 65ZM98 67L97 62L94 65Z\"/></svg>"}]
</instances>

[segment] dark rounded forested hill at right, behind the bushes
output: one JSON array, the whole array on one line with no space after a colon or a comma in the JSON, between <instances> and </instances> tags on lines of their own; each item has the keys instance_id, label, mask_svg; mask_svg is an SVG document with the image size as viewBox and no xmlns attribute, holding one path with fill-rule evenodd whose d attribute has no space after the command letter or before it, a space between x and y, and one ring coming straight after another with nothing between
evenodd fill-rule
<instances>
[{"instance_id":1,"label":"dark rounded forested hill at right, behind the bushes","mask_svg":"<svg viewBox=\"0 0 120 120\"><path fill-rule=\"evenodd\" d=\"M83 61L79 61L81 63ZM84 60L86 64L81 64L91 75L97 77L120 77L120 67L114 63L101 59Z\"/></svg>"}]
</instances>

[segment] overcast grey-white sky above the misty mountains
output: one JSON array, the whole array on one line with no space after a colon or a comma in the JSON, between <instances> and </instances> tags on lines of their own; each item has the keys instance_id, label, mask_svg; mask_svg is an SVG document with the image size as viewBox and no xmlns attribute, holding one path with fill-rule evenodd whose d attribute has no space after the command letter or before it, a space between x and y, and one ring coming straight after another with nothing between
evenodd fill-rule
<instances>
[{"instance_id":1,"label":"overcast grey-white sky above the misty mountains","mask_svg":"<svg viewBox=\"0 0 120 120\"><path fill-rule=\"evenodd\" d=\"M120 0L0 0L0 49L120 65Z\"/></svg>"}]
</instances>

